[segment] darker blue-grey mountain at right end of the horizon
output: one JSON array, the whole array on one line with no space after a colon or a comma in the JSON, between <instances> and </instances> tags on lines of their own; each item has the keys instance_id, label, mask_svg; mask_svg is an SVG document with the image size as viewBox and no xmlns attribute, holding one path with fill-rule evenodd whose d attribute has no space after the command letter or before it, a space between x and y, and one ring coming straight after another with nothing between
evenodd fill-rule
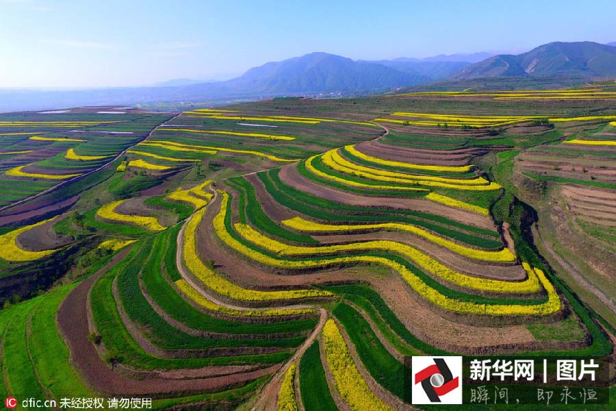
<instances>
[{"instance_id":1,"label":"darker blue-grey mountain at right end of the horizon","mask_svg":"<svg viewBox=\"0 0 616 411\"><path fill-rule=\"evenodd\" d=\"M450 79L512 76L616 76L616 47L589 41L551 42L518 55L494 55L466 67Z\"/></svg>"}]
</instances>

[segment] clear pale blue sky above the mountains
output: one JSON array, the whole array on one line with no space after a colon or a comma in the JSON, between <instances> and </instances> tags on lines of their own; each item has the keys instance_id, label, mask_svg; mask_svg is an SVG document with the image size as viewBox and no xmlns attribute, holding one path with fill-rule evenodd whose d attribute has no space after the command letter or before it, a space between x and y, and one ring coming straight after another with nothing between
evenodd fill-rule
<instances>
[{"instance_id":1,"label":"clear pale blue sky above the mountains","mask_svg":"<svg viewBox=\"0 0 616 411\"><path fill-rule=\"evenodd\" d=\"M614 0L0 0L0 87L219 79L326 51L353 59L616 41Z\"/></svg>"}]
</instances>

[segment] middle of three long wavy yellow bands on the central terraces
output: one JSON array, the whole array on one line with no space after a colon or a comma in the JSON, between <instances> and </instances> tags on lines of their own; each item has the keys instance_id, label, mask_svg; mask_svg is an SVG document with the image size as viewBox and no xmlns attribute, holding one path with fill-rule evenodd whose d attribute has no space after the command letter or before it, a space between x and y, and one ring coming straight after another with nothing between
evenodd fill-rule
<instances>
[{"instance_id":1,"label":"middle of three long wavy yellow bands on the central terraces","mask_svg":"<svg viewBox=\"0 0 616 411\"><path fill-rule=\"evenodd\" d=\"M263 247L264 249L277 254L277 256L321 256L328 254L346 253L348 251L378 251L378 252L394 252L413 262L422 269L441 277L442 279L458 286L472 288L474 290L489 291L489 292L509 292L509 293L533 293L538 292L541 288L537 281L537 276L528 273L528 278L523 282L507 282L498 279L484 279L465 275L450 269L448 266L441 264L430 256L422 253L418 249L410 245L391 240L369 240L364 242L354 242L351 244L341 245L325 245L320 247L301 247L296 245L287 245L272 238L268 238L257 232L250 225L236 223L235 230L254 245ZM505 253L502 258L508 258Z\"/></svg>"}]
</instances>

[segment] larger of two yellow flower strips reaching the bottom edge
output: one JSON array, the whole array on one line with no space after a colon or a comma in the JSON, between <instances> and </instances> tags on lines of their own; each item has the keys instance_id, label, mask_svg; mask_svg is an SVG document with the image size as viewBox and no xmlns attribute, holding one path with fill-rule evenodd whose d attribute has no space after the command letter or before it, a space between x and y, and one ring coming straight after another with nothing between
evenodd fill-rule
<instances>
[{"instance_id":1,"label":"larger of two yellow flower strips reaching the bottom edge","mask_svg":"<svg viewBox=\"0 0 616 411\"><path fill-rule=\"evenodd\" d=\"M323 327L325 359L333 375L340 397L353 411L393 411L376 397L364 381L346 347L335 321L329 319Z\"/></svg>"}]
</instances>

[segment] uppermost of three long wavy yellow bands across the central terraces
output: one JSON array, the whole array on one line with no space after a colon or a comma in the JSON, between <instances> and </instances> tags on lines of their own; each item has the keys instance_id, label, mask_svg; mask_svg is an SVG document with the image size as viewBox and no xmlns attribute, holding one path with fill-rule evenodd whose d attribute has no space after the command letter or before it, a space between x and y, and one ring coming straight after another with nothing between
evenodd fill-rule
<instances>
[{"instance_id":1,"label":"uppermost of three long wavy yellow bands across the central terraces","mask_svg":"<svg viewBox=\"0 0 616 411\"><path fill-rule=\"evenodd\" d=\"M507 248L503 248L499 251L479 250L464 245L459 245L457 242L447 240L440 236L436 236L425 229L417 227L411 224L405 223L376 223L376 224L322 224L315 223L314 221L308 221L301 217L294 217L292 219L282 221L287 227L296 229L298 231L307 232L354 232L365 231L375 229L395 230L403 231L425 238L428 241L434 242L441 247L446 247L454 253L468 258L474 258L476 260L493 261L493 262L513 262L515 261L515 255Z\"/></svg>"}]
</instances>

